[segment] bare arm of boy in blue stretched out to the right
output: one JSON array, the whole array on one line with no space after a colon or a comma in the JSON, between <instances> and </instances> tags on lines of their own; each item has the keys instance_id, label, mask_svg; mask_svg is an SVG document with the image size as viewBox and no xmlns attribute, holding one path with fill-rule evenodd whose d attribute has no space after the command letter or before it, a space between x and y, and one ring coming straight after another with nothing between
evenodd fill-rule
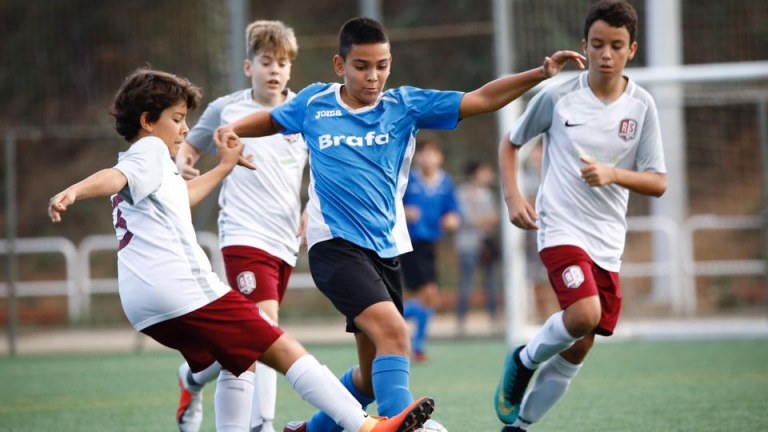
<instances>
[{"instance_id":1,"label":"bare arm of boy in blue stretched out to the right","mask_svg":"<svg viewBox=\"0 0 768 432\"><path fill-rule=\"evenodd\" d=\"M579 68L584 69L582 61L586 61L586 58L574 51L558 51L552 57L546 57L541 67L495 79L465 94L459 106L459 118L468 118L501 109L538 83L560 73L569 61L573 61L579 65Z\"/></svg>"}]
</instances>

